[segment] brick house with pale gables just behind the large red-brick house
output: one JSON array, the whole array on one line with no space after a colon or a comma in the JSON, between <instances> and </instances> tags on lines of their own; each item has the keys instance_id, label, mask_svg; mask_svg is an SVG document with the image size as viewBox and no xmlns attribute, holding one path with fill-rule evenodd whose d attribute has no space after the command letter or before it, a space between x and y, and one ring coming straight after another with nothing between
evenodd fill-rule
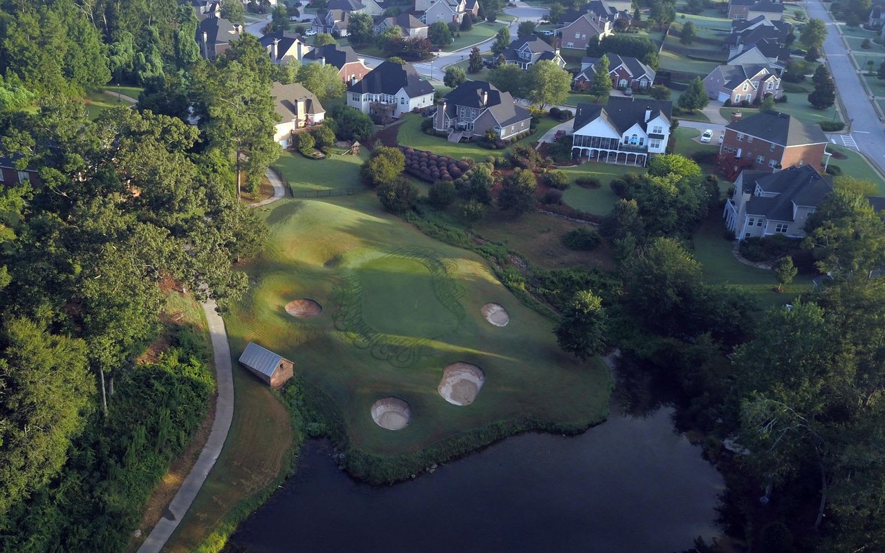
<instances>
[{"instance_id":1,"label":"brick house with pale gables just behind the large red-brick house","mask_svg":"<svg viewBox=\"0 0 885 553\"><path fill-rule=\"evenodd\" d=\"M766 65L720 65L704 77L707 97L718 102L753 104L765 96L783 95L781 78Z\"/></svg>"}]
</instances>

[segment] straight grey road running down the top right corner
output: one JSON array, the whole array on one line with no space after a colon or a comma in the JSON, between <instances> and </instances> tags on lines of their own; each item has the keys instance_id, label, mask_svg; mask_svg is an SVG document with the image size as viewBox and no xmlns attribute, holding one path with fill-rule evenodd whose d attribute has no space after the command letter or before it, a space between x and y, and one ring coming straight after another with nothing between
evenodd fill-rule
<instances>
[{"instance_id":1,"label":"straight grey road running down the top right corner","mask_svg":"<svg viewBox=\"0 0 885 553\"><path fill-rule=\"evenodd\" d=\"M849 130L857 142L857 150L865 153L881 172L885 170L885 129L873 110L873 104L870 104L870 96L860 84L861 77L851 63L842 35L820 0L808 0L805 9L809 17L821 19L827 24L829 32L824 41L824 53L827 55L829 70L833 73L839 97L847 111L843 113L843 119L850 121Z\"/></svg>"}]
</instances>

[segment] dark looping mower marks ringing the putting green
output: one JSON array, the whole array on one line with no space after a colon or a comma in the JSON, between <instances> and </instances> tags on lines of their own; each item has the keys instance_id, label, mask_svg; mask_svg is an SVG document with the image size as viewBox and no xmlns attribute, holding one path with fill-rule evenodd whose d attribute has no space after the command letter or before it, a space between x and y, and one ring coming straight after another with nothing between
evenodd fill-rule
<instances>
[{"instance_id":1,"label":"dark looping mower marks ringing the putting green","mask_svg":"<svg viewBox=\"0 0 885 553\"><path fill-rule=\"evenodd\" d=\"M419 247L400 248L382 259L392 257L424 265L430 273L436 300L446 311L455 316L458 324L464 320L466 311L461 305L464 290L450 278L450 274L457 268L454 261L440 256L434 250ZM367 323L363 316L363 290L358 273L355 271L349 272L344 277L343 285L334 292L334 300L338 305L334 315L335 328L350 334L350 338L358 348L370 350L373 357L388 361L390 365L399 368L415 365L424 352L424 346L438 337L417 338L386 334Z\"/></svg>"}]
</instances>

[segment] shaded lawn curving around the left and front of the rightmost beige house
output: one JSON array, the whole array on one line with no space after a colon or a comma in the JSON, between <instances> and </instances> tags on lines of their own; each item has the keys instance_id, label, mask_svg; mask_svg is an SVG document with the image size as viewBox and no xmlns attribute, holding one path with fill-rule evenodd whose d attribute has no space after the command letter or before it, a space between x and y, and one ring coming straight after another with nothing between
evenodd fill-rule
<instances>
[{"instance_id":1,"label":"shaded lawn curving around the left and front of the rightmost beige house","mask_svg":"<svg viewBox=\"0 0 885 553\"><path fill-rule=\"evenodd\" d=\"M782 293L773 291L777 279L773 271L744 265L732 253L733 242L725 239L725 224L720 212L698 227L692 242L695 257L704 267L704 280L711 284L728 284L749 294L758 307L767 308L791 303L793 297L812 288L812 277L798 275Z\"/></svg>"}]
</instances>

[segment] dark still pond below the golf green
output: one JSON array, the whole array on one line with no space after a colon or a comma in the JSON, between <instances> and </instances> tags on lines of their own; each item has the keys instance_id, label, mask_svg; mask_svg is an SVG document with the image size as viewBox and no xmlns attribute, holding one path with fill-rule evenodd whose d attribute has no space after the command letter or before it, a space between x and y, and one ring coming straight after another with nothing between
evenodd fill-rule
<instances>
[{"instance_id":1,"label":"dark still pond below the golf green","mask_svg":"<svg viewBox=\"0 0 885 553\"><path fill-rule=\"evenodd\" d=\"M612 415L576 437L525 434L390 487L351 480L328 442L233 536L276 551L635 552L688 549L714 526L720 475L672 411Z\"/></svg>"}]
</instances>

